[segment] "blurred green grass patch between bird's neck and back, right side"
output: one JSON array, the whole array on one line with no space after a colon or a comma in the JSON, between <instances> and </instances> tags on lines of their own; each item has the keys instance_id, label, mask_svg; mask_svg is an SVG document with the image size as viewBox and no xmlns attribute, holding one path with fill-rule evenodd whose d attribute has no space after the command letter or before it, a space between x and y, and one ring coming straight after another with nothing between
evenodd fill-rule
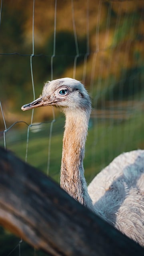
<instances>
[{"instance_id":1,"label":"blurred green grass patch between bird's neck and back, right side","mask_svg":"<svg viewBox=\"0 0 144 256\"><path fill-rule=\"evenodd\" d=\"M139 115L112 126L109 121L99 123L89 130L84 159L88 183L122 152L144 148L143 127Z\"/></svg>"}]
</instances>

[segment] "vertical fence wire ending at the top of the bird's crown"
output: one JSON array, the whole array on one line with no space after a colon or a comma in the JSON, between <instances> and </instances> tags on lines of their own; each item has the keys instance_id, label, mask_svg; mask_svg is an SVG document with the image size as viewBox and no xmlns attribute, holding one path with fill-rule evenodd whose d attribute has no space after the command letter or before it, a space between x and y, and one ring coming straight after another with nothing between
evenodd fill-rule
<instances>
[{"instance_id":1,"label":"vertical fence wire ending at the top of the bird's crown","mask_svg":"<svg viewBox=\"0 0 144 256\"><path fill-rule=\"evenodd\" d=\"M78 57L80 56L79 50L78 50L78 40L76 36L76 24L75 24L75 19L74 19L74 1L72 0L72 24L73 24L73 30L74 30L74 41L75 41L75 46L76 46L76 56L74 58L74 69L73 69L73 78L76 78L76 62Z\"/></svg>"}]
</instances>

